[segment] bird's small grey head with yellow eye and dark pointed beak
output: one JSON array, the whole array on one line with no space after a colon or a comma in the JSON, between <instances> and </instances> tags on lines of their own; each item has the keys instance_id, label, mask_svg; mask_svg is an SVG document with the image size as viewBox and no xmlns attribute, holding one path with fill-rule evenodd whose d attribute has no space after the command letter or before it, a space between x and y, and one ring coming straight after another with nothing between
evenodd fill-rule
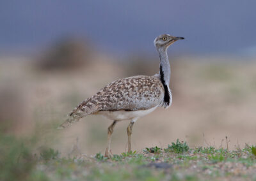
<instances>
[{"instance_id":1,"label":"bird's small grey head with yellow eye and dark pointed beak","mask_svg":"<svg viewBox=\"0 0 256 181\"><path fill-rule=\"evenodd\" d=\"M154 44L157 48L157 50L163 48L166 50L172 43L174 43L177 40L183 40L183 37L177 37L177 36L172 36L170 34L161 34L157 36L157 38L154 40Z\"/></svg>"}]
</instances>

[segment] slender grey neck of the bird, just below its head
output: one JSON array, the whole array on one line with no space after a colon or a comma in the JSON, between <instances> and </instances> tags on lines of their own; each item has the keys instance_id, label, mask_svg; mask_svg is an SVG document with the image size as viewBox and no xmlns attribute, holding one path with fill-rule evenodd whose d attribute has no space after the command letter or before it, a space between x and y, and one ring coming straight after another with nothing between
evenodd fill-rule
<instances>
[{"instance_id":1,"label":"slender grey neck of the bird, just below its head","mask_svg":"<svg viewBox=\"0 0 256 181\"><path fill-rule=\"evenodd\" d=\"M159 74L161 77L161 81L169 87L171 68L170 68L170 62L168 59L166 48L164 48L164 49L160 48L158 50L158 53L159 53L159 57L160 57L160 72L159 72Z\"/></svg>"}]
</instances>

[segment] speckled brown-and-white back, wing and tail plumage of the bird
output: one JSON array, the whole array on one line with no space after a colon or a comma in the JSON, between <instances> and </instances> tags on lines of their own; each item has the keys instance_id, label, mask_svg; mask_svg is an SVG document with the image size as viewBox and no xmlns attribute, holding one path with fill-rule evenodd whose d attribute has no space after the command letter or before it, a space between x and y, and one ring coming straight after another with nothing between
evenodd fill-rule
<instances>
[{"instance_id":1,"label":"speckled brown-and-white back, wing and tail plumage of the bird","mask_svg":"<svg viewBox=\"0 0 256 181\"><path fill-rule=\"evenodd\" d=\"M109 83L91 98L78 105L70 114L70 126L82 117L100 111L147 110L160 105L164 98L163 83L157 76L131 76Z\"/></svg>"}]
</instances>

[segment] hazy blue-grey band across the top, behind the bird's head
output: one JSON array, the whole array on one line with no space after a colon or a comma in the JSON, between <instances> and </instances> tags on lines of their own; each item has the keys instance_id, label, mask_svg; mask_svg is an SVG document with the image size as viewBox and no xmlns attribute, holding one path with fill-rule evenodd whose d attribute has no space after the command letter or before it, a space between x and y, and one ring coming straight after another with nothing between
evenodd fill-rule
<instances>
[{"instance_id":1,"label":"hazy blue-grey band across the top, behind the bird's head","mask_svg":"<svg viewBox=\"0 0 256 181\"><path fill-rule=\"evenodd\" d=\"M255 0L1 0L0 49L85 36L117 54L150 52L154 38L169 33L186 38L175 51L236 54L256 50L255 8Z\"/></svg>"}]
</instances>

